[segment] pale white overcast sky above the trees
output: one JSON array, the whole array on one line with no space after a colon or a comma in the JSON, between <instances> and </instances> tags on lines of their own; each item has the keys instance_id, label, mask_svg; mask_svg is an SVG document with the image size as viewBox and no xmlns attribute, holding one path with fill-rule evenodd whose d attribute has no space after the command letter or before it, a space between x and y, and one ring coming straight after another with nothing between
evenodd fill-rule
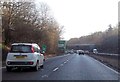
<instances>
[{"instance_id":1,"label":"pale white overcast sky above the trees","mask_svg":"<svg viewBox=\"0 0 120 82\"><path fill-rule=\"evenodd\" d=\"M36 0L49 5L53 16L64 26L65 40L105 31L118 23L119 0Z\"/></svg>"}]
</instances>

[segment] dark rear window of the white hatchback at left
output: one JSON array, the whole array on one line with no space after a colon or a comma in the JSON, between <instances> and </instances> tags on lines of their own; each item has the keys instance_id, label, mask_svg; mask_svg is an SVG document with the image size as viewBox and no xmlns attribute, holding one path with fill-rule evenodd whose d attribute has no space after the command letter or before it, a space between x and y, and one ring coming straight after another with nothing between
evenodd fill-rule
<instances>
[{"instance_id":1,"label":"dark rear window of the white hatchback at left","mask_svg":"<svg viewBox=\"0 0 120 82\"><path fill-rule=\"evenodd\" d=\"M31 53L31 46L30 45L13 45L11 47L11 51L13 53Z\"/></svg>"}]
</instances>

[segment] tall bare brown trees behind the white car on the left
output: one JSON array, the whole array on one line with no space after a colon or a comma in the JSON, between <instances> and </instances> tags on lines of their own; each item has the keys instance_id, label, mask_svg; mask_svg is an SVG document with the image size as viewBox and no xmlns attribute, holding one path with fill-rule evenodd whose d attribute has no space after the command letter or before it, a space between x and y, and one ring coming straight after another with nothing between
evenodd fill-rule
<instances>
[{"instance_id":1,"label":"tall bare brown trees behind the white car on the left","mask_svg":"<svg viewBox=\"0 0 120 82\"><path fill-rule=\"evenodd\" d=\"M35 42L47 45L50 53L56 52L62 30L46 3L37 8L31 2L4 2L2 10L5 44Z\"/></svg>"}]
</instances>

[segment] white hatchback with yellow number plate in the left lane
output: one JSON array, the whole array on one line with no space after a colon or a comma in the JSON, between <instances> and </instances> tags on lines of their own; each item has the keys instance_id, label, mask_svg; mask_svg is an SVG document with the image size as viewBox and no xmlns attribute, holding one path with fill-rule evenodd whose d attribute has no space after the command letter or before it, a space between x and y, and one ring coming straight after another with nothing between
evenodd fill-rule
<instances>
[{"instance_id":1,"label":"white hatchback with yellow number plate in the left lane","mask_svg":"<svg viewBox=\"0 0 120 82\"><path fill-rule=\"evenodd\" d=\"M43 67L44 55L40 53L40 47L35 43L14 43L7 54L6 69L30 67L37 71Z\"/></svg>"}]
</instances>

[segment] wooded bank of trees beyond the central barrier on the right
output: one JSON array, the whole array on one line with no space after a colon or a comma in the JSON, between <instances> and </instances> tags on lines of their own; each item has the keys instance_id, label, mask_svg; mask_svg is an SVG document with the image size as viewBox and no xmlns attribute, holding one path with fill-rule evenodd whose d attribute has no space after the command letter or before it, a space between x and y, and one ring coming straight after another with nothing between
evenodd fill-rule
<instances>
[{"instance_id":1,"label":"wooded bank of trees beyond the central barrier on the right","mask_svg":"<svg viewBox=\"0 0 120 82\"><path fill-rule=\"evenodd\" d=\"M81 36L78 38L73 38L68 41L69 44L95 44L99 52L105 53L118 53L119 46L119 33L118 26L109 28L104 32L94 32L87 36Z\"/></svg>"}]
</instances>

